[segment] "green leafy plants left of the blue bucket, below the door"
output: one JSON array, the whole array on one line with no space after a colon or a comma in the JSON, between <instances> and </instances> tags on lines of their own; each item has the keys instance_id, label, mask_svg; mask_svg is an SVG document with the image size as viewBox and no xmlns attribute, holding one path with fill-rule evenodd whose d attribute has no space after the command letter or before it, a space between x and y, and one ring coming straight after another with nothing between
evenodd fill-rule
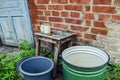
<instances>
[{"instance_id":1,"label":"green leafy plants left of the blue bucket, below the door","mask_svg":"<svg viewBox=\"0 0 120 80\"><path fill-rule=\"evenodd\" d=\"M34 55L35 49L26 41L19 44L19 49L13 56L7 56L5 52L0 54L0 80L23 80L17 71L17 63L24 57Z\"/></svg>"}]
</instances>

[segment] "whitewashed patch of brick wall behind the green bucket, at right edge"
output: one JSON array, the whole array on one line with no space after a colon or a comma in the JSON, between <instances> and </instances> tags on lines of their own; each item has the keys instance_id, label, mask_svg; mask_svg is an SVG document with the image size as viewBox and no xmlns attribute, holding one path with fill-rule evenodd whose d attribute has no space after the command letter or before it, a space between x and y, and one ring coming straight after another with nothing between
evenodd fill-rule
<instances>
[{"instance_id":1,"label":"whitewashed patch of brick wall behind the green bucket, at right edge","mask_svg":"<svg viewBox=\"0 0 120 80\"><path fill-rule=\"evenodd\" d=\"M105 22L105 25L109 30L108 35L96 35L92 45L103 48L111 60L120 63L120 23Z\"/></svg>"}]
</instances>

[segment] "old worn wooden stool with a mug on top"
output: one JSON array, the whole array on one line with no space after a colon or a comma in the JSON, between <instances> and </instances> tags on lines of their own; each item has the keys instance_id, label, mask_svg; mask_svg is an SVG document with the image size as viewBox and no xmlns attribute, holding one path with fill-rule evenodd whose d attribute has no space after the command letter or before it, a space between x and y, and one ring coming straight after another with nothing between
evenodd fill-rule
<instances>
[{"instance_id":1,"label":"old worn wooden stool with a mug on top","mask_svg":"<svg viewBox=\"0 0 120 80\"><path fill-rule=\"evenodd\" d=\"M41 41L49 42L54 44L54 75L56 75L57 65L58 65L58 55L61 51L61 45L68 42L68 47L73 45L75 34L70 32L65 32L61 30L52 30L51 35L46 35L43 33L35 33L36 40L36 55L40 55Z\"/></svg>"}]
</instances>

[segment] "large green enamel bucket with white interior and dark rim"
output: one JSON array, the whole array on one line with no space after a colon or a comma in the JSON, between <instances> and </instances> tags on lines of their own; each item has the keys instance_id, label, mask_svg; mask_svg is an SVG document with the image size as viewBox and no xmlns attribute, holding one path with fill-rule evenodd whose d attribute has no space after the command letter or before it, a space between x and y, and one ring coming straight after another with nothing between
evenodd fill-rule
<instances>
[{"instance_id":1,"label":"large green enamel bucket with white interior and dark rim","mask_svg":"<svg viewBox=\"0 0 120 80\"><path fill-rule=\"evenodd\" d=\"M74 46L62 52L64 80L104 80L109 56L91 46Z\"/></svg>"}]
</instances>

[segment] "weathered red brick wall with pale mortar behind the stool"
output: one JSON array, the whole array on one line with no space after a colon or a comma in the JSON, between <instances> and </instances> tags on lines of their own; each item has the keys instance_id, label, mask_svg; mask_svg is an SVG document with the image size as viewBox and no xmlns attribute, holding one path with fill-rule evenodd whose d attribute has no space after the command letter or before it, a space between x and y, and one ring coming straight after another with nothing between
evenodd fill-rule
<instances>
[{"instance_id":1,"label":"weathered red brick wall with pale mortar behind the stool","mask_svg":"<svg viewBox=\"0 0 120 80\"><path fill-rule=\"evenodd\" d=\"M50 23L75 32L78 44L101 47L116 61L120 57L120 0L29 0L29 7L34 32Z\"/></svg>"}]
</instances>

